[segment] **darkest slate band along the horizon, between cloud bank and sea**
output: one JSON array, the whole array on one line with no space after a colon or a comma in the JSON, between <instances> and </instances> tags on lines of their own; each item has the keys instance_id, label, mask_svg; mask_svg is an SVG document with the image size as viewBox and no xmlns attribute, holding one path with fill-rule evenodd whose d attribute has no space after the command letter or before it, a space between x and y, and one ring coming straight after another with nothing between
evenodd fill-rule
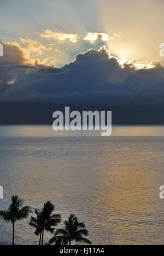
<instances>
[{"instance_id":1,"label":"darkest slate band along the horizon, between cloud bank and sea","mask_svg":"<svg viewBox=\"0 0 164 256\"><path fill-rule=\"evenodd\" d=\"M54 120L52 114L56 110L65 113L65 106L52 103L0 103L0 124L52 124ZM80 108L70 106L70 110L80 112L86 110L112 111L112 124L164 124L164 107L85 106Z\"/></svg>"}]
</instances>

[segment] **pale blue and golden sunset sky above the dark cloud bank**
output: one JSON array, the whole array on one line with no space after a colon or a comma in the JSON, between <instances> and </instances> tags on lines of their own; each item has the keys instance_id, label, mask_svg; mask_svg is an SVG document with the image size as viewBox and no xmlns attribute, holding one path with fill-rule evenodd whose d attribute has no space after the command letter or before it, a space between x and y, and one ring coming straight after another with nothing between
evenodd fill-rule
<instances>
[{"instance_id":1,"label":"pale blue and golden sunset sky above the dark cloud bank","mask_svg":"<svg viewBox=\"0 0 164 256\"><path fill-rule=\"evenodd\" d=\"M1 0L0 5L0 38L19 45L31 61L63 66L78 53L106 45L120 59L164 63L162 0Z\"/></svg>"}]
</instances>

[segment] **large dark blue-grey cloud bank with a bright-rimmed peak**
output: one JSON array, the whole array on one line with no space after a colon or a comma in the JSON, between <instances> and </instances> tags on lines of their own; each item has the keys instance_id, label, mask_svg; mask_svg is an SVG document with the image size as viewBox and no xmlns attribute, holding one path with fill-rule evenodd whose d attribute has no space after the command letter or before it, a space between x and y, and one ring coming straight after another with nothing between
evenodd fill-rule
<instances>
[{"instance_id":1,"label":"large dark blue-grey cloud bank with a bright-rimmed peak","mask_svg":"<svg viewBox=\"0 0 164 256\"><path fill-rule=\"evenodd\" d=\"M12 50L11 56L0 59L0 102L81 107L164 105L164 68L157 61L150 69L135 69L132 63L122 68L106 48L101 48L78 54L62 68L33 67L22 66L19 49Z\"/></svg>"}]
</instances>

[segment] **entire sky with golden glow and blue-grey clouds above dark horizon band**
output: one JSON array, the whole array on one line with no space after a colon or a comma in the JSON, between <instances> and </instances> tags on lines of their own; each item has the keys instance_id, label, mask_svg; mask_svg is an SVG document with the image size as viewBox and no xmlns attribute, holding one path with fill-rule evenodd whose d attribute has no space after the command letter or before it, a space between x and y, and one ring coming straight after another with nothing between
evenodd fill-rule
<instances>
[{"instance_id":1,"label":"entire sky with golden glow and blue-grey clouds above dark horizon band","mask_svg":"<svg viewBox=\"0 0 164 256\"><path fill-rule=\"evenodd\" d=\"M162 0L1 0L0 103L163 107Z\"/></svg>"}]
</instances>

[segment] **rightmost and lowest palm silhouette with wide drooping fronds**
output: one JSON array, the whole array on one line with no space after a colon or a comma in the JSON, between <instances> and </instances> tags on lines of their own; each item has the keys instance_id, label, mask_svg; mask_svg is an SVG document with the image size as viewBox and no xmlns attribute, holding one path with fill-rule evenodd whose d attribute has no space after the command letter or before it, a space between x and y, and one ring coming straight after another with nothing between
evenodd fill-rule
<instances>
[{"instance_id":1,"label":"rightmost and lowest palm silhouette with wide drooping fronds","mask_svg":"<svg viewBox=\"0 0 164 256\"><path fill-rule=\"evenodd\" d=\"M77 217L71 214L68 220L65 220L64 228L56 230L55 235L50 239L49 244L56 244L60 241L62 245L71 245L71 242L75 241L79 243L89 243L91 245L91 242L83 237L88 235L88 231L84 228L85 224L78 222Z\"/></svg>"}]
</instances>

